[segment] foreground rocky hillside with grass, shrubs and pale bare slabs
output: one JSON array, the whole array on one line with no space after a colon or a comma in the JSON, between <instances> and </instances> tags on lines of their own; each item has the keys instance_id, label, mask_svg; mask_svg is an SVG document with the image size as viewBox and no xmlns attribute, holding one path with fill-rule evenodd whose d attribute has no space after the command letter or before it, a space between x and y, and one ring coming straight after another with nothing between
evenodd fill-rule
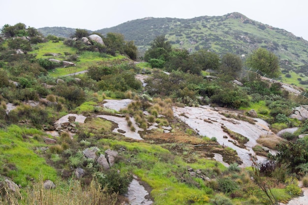
<instances>
[{"instance_id":1,"label":"foreground rocky hillside with grass, shrubs and pale bare slabs","mask_svg":"<svg viewBox=\"0 0 308 205\"><path fill-rule=\"evenodd\" d=\"M105 49L24 24L4 31L0 205L305 201L304 88L252 72L165 72L117 41Z\"/></svg>"}]
</instances>

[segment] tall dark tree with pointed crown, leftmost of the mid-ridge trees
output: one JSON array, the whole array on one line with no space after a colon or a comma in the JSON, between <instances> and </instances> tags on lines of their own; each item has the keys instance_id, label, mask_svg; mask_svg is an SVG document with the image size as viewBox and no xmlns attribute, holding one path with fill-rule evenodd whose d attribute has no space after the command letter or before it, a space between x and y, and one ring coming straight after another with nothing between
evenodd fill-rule
<instances>
[{"instance_id":1,"label":"tall dark tree with pointed crown, leftmost of the mid-ridge trees","mask_svg":"<svg viewBox=\"0 0 308 205\"><path fill-rule=\"evenodd\" d=\"M172 51L171 43L165 40L165 35L156 36L151 43L151 48L145 53L144 59L162 59L167 60L169 53Z\"/></svg>"}]
</instances>

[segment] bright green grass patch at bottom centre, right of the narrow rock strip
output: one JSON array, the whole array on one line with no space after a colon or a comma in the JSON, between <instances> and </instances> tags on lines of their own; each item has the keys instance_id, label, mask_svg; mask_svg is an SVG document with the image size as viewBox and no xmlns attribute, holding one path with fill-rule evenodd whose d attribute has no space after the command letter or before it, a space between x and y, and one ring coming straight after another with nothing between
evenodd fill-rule
<instances>
[{"instance_id":1,"label":"bright green grass patch at bottom centre, right of the narrow rock strip","mask_svg":"<svg viewBox=\"0 0 308 205\"><path fill-rule=\"evenodd\" d=\"M110 139L100 140L101 144L111 148L124 147L124 154L130 158L130 163L119 162L116 169L121 172L132 172L152 187L151 195L155 204L186 205L187 198L192 196L209 196L213 190L206 187L199 178L191 177L187 167L194 170L206 170L217 167L221 172L227 170L222 164L207 159L198 159L195 163L186 163L181 157L174 156L169 150L158 145L142 142L128 143ZM126 158L125 157L125 158ZM179 180L180 175L186 182ZM199 188L195 184L199 184ZM194 185L192 185L194 184ZM204 205L196 202L195 205Z\"/></svg>"}]
</instances>

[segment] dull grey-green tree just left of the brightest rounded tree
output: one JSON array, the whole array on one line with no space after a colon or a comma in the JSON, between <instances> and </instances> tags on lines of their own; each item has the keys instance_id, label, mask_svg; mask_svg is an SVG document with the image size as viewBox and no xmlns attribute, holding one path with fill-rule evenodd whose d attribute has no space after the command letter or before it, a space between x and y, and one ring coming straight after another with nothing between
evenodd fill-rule
<instances>
[{"instance_id":1,"label":"dull grey-green tree just left of the brightest rounded tree","mask_svg":"<svg viewBox=\"0 0 308 205\"><path fill-rule=\"evenodd\" d=\"M227 53L221 58L219 70L221 73L237 78L243 68L242 59L235 55Z\"/></svg>"}]
</instances>

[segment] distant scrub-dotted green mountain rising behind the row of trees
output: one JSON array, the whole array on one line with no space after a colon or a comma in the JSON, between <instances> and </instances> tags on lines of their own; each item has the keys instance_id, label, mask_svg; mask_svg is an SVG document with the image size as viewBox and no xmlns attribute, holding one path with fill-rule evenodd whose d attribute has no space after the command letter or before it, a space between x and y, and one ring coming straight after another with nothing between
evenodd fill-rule
<instances>
[{"instance_id":1,"label":"distant scrub-dotted green mountain rising behind the row of trees","mask_svg":"<svg viewBox=\"0 0 308 205\"><path fill-rule=\"evenodd\" d=\"M45 32L46 29L39 30ZM60 31L63 33L63 29ZM306 69L308 64L308 41L237 12L192 19L148 17L95 32L103 35L123 33L126 40L133 40L141 50L148 48L155 36L164 34L174 48L207 49L219 55L229 52L246 56L264 47L273 51L281 59L281 67L288 70L299 66Z\"/></svg>"}]
</instances>

